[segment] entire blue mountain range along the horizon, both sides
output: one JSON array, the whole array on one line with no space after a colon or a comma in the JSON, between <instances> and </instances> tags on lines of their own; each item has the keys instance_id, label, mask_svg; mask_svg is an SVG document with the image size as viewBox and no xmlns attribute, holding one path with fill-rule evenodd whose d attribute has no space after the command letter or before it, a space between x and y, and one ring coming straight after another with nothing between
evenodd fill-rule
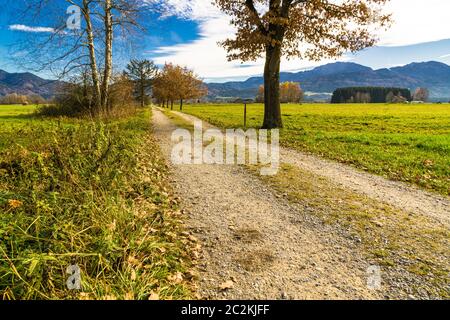
<instances>
[{"instance_id":1,"label":"entire blue mountain range along the horizon, both sides","mask_svg":"<svg viewBox=\"0 0 450 320\"><path fill-rule=\"evenodd\" d=\"M308 71L282 72L280 79L283 82L299 82L308 100L329 99L337 88L361 86L402 87L410 90L425 87L430 90L432 100L450 100L450 66L435 61L378 70L351 62L336 62ZM59 81L42 79L32 73L8 73L0 70L0 95L39 94L50 98L60 84ZM263 77L208 83L208 99L253 99L262 84Z\"/></svg>"}]
</instances>

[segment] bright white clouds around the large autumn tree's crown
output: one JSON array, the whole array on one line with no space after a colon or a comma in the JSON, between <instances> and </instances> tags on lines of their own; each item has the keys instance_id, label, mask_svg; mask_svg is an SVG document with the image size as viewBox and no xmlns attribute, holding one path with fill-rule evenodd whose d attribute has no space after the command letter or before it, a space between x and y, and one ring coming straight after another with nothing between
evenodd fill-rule
<instances>
[{"instance_id":1,"label":"bright white clouds around the large autumn tree's crown","mask_svg":"<svg viewBox=\"0 0 450 320\"><path fill-rule=\"evenodd\" d=\"M167 15L196 21L200 32L195 41L157 48L154 51L157 63L173 62L188 66L207 81L225 81L262 73L262 59L244 65L239 61L227 61L225 50L217 43L232 36L233 27L229 24L229 17L222 14L212 0L167 0L165 3L170 8ZM379 45L401 46L450 38L448 0L391 0L386 10L393 12L394 24L389 31L379 31ZM283 60L282 70L296 71L327 62L330 61Z\"/></svg>"}]
</instances>

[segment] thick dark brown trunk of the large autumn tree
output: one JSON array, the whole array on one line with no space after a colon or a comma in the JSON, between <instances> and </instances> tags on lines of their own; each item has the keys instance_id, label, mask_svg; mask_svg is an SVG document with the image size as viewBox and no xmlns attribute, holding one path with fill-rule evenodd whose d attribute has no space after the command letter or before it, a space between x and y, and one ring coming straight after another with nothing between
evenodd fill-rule
<instances>
[{"instance_id":1,"label":"thick dark brown trunk of the large autumn tree","mask_svg":"<svg viewBox=\"0 0 450 320\"><path fill-rule=\"evenodd\" d=\"M264 123L263 129L282 128L280 106L281 46L268 45L264 68Z\"/></svg>"}]
</instances>

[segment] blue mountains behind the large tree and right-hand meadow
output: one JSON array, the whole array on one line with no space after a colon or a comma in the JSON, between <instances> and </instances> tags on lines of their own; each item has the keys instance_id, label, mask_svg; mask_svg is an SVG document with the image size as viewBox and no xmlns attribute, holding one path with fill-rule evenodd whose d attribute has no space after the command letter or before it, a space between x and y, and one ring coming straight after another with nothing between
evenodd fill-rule
<instances>
[{"instance_id":1,"label":"blue mountains behind the large tree and right-hand meadow","mask_svg":"<svg viewBox=\"0 0 450 320\"><path fill-rule=\"evenodd\" d=\"M336 62L298 73L283 72L281 81L300 82L310 99L323 99L341 87L426 87L433 100L450 100L450 66L440 62L412 63L373 70L356 63ZM262 77L242 82L209 83L209 98L254 98Z\"/></svg>"}]
</instances>

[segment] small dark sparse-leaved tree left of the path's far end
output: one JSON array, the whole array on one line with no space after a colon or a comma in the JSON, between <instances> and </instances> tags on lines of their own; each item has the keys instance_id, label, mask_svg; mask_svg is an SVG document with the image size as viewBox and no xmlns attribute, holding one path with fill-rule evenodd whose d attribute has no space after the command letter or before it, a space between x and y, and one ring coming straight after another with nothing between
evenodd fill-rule
<instances>
[{"instance_id":1,"label":"small dark sparse-leaved tree left of the path's far end","mask_svg":"<svg viewBox=\"0 0 450 320\"><path fill-rule=\"evenodd\" d=\"M137 97L141 107L145 107L148 98L147 91L150 89L157 73L158 67L153 61L133 59L127 65L125 74L136 84Z\"/></svg>"}]
</instances>

